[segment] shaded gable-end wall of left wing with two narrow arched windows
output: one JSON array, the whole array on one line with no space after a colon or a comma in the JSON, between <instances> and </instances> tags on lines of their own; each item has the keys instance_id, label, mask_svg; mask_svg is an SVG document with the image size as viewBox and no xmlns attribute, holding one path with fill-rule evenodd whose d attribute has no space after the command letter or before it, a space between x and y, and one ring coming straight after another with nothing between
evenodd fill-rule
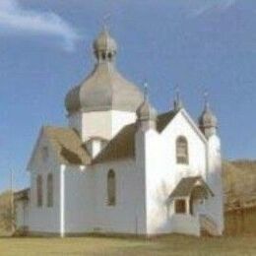
<instances>
[{"instance_id":1,"label":"shaded gable-end wall of left wing with two narrow arched windows","mask_svg":"<svg viewBox=\"0 0 256 256\"><path fill-rule=\"evenodd\" d=\"M60 166L54 159L54 153L48 147L48 159L42 160L41 151L43 147L48 146L45 137L41 138L39 147L34 156L33 169L31 170L31 198L30 198L30 214L29 224L32 232L52 232L60 231L59 216L59 170ZM47 207L47 174L53 174L53 207ZM42 207L37 207L36 201L36 177L42 176Z\"/></svg>"}]
</instances>

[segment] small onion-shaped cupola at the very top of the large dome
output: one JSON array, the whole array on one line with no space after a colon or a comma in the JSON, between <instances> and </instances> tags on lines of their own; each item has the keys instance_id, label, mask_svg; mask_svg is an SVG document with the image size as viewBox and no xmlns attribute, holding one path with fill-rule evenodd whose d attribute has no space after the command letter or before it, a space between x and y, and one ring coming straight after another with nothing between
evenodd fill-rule
<instances>
[{"instance_id":1,"label":"small onion-shaped cupola at the very top of the large dome","mask_svg":"<svg viewBox=\"0 0 256 256\"><path fill-rule=\"evenodd\" d=\"M114 38L112 38L106 28L99 33L95 42L94 50L97 59L112 58L117 51L117 44Z\"/></svg>"}]
</instances>

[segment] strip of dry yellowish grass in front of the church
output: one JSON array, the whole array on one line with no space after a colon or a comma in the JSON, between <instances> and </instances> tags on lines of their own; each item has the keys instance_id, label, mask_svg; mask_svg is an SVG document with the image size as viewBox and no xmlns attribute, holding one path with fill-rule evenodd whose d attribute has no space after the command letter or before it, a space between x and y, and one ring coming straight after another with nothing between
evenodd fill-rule
<instances>
[{"instance_id":1,"label":"strip of dry yellowish grass in front of the church","mask_svg":"<svg viewBox=\"0 0 256 256\"><path fill-rule=\"evenodd\" d=\"M0 255L256 255L256 237L0 238Z\"/></svg>"}]
</instances>

